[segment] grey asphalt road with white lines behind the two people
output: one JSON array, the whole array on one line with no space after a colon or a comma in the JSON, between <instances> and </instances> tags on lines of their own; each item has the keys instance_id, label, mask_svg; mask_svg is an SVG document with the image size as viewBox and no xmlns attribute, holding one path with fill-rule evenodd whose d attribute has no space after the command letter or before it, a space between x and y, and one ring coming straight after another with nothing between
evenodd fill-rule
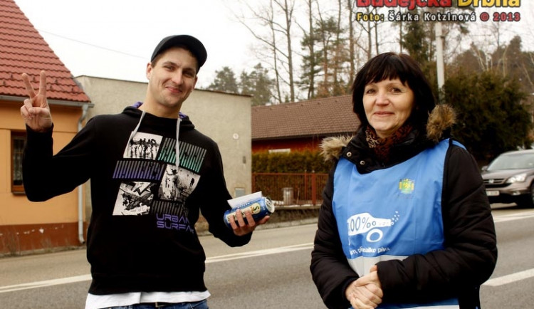
<instances>
[{"instance_id":1,"label":"grey asphalt road with white lines behind the two people","mask_svg":"<svg viewBox=\"0 0 534 309\"><path fill-rule=\"evenodd\" d=\"M493 215L499 258L482 308L534 308L534 210L496 206ZM210 308L325 308L308 268L314 234L315 224L264 229L241 248L202 236ZM81 249L0 258L0 308L83 308L88 273Z\"/></svg>"}]
</instances>

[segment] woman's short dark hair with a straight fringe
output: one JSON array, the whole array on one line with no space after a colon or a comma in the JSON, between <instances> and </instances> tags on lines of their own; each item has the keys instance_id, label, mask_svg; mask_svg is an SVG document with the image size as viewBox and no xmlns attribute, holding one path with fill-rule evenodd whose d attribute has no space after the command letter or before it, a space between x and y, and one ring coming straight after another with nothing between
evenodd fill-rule
<instances>
[{"instance_id":1,"label":"woman's short dark hair with a straight fringe","mask_svg":"<svg viewBox=\"0 0 534 309\"><path fill-rule=\"evenodd\" d=\"M362 101L365 85L395 78L399 78L414 92L414 110L408 121L415 127L426 125L429 112L436 106L436 101L419 64L404 53L381 53L365 63L352 84L353 110L360 118L362 126L367 127L369 124Z\"/></svg>"}]
</instances>

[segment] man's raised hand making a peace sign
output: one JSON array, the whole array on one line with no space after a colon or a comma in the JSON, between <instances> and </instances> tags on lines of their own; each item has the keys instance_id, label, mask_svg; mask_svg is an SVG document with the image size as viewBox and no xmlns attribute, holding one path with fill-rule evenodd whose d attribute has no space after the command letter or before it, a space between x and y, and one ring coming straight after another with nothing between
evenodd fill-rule
<instances>
[{"instance_id":1,"label":"man's raised hand making a peace sign","mask_svg":"<svg viewBox=\"0 0 534 309\"><path fill-rule=\"evenodd\" d=\"M22 80L26 86L29 98L24 100L21 107L21 115L28 127L32 130L43 132L52 127L52 115L46 100L46 73L41 70L38 93L30 83L28 74L22 73Z\"/></svg>"}]
</instances>

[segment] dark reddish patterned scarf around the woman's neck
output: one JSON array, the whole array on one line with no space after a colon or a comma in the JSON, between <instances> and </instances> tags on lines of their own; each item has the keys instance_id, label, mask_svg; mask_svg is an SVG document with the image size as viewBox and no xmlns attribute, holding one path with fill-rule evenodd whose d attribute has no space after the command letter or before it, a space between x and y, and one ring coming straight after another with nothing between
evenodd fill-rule
<instances>
[{"instance_id":1,"label":"dark reddish patterned scarf around the woman's neck","mask_svg":"<svg viewBox=\"0 0 534 309\"><path fill-rule=\"evenodd\" d=\"M369 145L369 148L375 153L379 162L387 163L389 162L389 154L392 147L406 140L406 137L412 132L412 129L412 125L404 123L404 125L399 127L399 129L392 135L380 138L375 129L370 125L367 125L367 128L365 129L365 140L367 140L367 145Z\"/></svg>"}]
</instances>

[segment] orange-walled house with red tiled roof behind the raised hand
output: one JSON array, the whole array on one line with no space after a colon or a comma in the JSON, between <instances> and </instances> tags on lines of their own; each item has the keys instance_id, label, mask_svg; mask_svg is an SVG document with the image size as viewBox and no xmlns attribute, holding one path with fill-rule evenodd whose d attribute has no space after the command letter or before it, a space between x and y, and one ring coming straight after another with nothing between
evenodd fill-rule
<instances>
[{"instance_id":1,"label":"orange-walled house with red tiled roof behind the raised hand","mask_svg":"<svg viewBox=\"0 0 534 309\"><path fill-rule=\"evenodd\" d=\"M41 70L47 73L57 152L82 127L93 103L14 0L0 0L0 255L75 246L84 239L80 189L42 203L32 203L24 194L26 127L20 108L27 93L21 74L28 73L37 89Z\"/></svg>"}]
</instances>

